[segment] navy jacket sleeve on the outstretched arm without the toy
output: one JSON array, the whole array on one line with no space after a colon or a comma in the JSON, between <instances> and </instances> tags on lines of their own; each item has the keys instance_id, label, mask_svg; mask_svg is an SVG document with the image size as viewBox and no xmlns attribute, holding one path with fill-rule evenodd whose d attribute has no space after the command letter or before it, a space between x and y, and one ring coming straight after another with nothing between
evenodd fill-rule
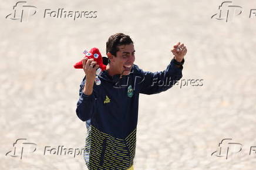
<instances>
[{"instance_id":1,"label":"navy jacket sleeve on the outstretched arm without the toy","mask_svg":"<svg viewBox=\"0 0 256 170\"><path fill-rule=\"evenodd\" d=\"M182 70L183 66L177 67L174 64L174 59L171 60L166 70L162 72L143 72L143 70L139 69L139 74L143 77L139 93L156 94L170 89L181 79Z\"/></svg>"}]
</instances>

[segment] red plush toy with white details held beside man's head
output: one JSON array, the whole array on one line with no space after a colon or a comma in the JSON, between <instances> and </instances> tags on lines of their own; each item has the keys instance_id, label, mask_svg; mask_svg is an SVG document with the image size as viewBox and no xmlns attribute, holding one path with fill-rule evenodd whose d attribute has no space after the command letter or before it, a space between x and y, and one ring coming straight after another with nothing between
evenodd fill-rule
<instances>
[{"instance_id":1,"label":"red plush toy with white details held beside man's head","mask_svg":"<svg viewBox=\"0 0 256 170\"><path fill-rule=\"evenodd\" d=\"M96 79L95 79L95 83L97 85L99 85L100 79L99 79L99 75L102 73L102 71L106 70L106 65L103 64L103 60L102 60L102 55L100 54L99 49L97 49L96 47L90 49L89 52L87 52L85 50L85 52L83 52L83 54L85 54L85 57L88 57L89 59L94 59L95 62L97 62L97 64L99 64L99 69L96 70ZM74 65L75 69L83 69L83 63L82 60L78 63L76 63Z\"/></svg>"}]
</instances>

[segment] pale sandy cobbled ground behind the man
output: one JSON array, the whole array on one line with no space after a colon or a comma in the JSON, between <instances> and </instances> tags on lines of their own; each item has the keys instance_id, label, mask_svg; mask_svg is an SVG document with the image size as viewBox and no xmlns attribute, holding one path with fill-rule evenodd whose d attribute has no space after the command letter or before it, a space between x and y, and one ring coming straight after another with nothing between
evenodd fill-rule
<instances>
[{"instance_id":1,"label":"pale sandy cobbled ground behind the man","mask_svg":"<svg viewBox=\"0 0 256 170\"><path fill-rule=\"evenodd\" d=\"M74 158L86 128L75 113L83 72L72 65L85 48L105 53L116 32L132 37L136 64L151 72L164 70L171 47L185 43L183 83L203 79L140 96L136 170L254 169L256 2L234 1L242 13L228 22L211 19L221 2L28 1L36 13L19 22L5 18L16 1L1 1L0 169L86 169L82 155ZM59 8L97 17L43 18Z\"/></svg>"}]
</instances>

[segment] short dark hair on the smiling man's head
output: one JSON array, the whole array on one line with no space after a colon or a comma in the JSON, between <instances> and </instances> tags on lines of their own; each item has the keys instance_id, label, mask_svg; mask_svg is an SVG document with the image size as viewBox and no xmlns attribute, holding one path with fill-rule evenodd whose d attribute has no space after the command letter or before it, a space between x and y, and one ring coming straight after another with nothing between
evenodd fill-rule
<instances>
[{"instance_id":1,"label":"short dark hair on the smiling man's head","mask_svg":"<svg viewBox=\"0 0 256 170\"><path fill-rule=\"evenodd\" d=\"M129 35L125 35L123 33L116 33L109 37L106 43L106 54L110 52L112 55L116 56L116 52L119 51L117 46L120 45L129 45L133 43L132 39Z\"/></svg>"}]
</instances>

